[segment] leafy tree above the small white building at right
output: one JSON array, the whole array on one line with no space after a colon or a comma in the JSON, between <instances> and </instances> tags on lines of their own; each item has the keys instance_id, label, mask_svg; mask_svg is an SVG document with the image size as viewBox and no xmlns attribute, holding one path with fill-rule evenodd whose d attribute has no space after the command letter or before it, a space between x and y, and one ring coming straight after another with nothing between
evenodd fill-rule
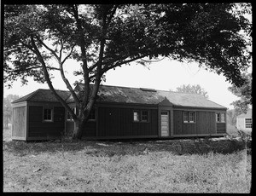
<instances>
[{"instance_id":1,"label":"leafy tree above the small white building at right","mask_svg":"<svg viewBox=\"0 0 256 196\"><path fill-rule=\"evenodd\" d=\"M231 105L233 105L236 111L240 113L246 113L248 107L253 104L252 97L252 73L242 74L242 78L245 79L245 83L241 87L237 87L235 84L230 86L228 89L234 95L240 97L240 100L233 101Z\"/></svg>"}]
</instances>

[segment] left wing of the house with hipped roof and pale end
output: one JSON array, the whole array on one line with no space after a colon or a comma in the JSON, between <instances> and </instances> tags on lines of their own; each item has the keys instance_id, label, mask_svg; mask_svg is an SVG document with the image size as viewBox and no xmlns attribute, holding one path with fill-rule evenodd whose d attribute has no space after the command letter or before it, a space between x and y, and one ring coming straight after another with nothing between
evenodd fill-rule
<instances>
[{"instance_id":1,"label":"left wing of the house with hipped roof and pale end","mask_svg":"<svg viewBox=\"0 0 256 196\"><path fill-rule=\"evenodd\" d=\"M56 90L67 100L68 91ZM12 102L14 140L47 140L60 138L65 131L65 108L49 89L38 89Z\"/></svg>"}]
</instances>

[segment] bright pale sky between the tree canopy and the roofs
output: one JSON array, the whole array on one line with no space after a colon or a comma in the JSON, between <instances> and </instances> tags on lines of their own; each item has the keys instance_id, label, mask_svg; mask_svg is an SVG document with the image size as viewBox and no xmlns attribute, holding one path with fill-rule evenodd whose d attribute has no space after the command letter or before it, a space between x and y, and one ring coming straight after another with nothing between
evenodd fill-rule
<instances>
[{"instance_id":1,"label":"bright pale sky between the tree canopy and the roofs","mask_svg":"<svg viewBox=\"0 0 256 196\"><path fill-rule=\"evenodd\" d=\"M73 84L78 79L73 76L73 70L76 70L79 65L75 61L67 61L66 65L64 69L67 70L67 78ZM248 69L248 72L252 72L251 69ZM49 89L47 84L38 84L32 78L28 81L27 85L22 86L18 80L11 89L4 87L3 96L9 94L23 96L37 89ZM55 89L67 90L59 72L54 72L52 82ZM232 109L234 107L230 103L239 100L239 97L228 90L231 84L225 81L222 74L209 72L196 63L181 63L169 59L151 63L147 67L136 63L131 63L131 66L118 67L107 72L106 82L102 84L162 90L176 90L183 84L200 84L207 91L209 100L224 107Z\"/></svg>"}]
</instances>

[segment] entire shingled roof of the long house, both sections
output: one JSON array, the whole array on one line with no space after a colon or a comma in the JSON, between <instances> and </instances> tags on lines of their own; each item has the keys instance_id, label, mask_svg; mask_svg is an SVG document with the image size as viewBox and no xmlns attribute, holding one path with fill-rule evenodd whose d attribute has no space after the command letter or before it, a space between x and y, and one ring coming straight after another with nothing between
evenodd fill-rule
<instances>
[{"instance_id":1,"label":"entire shingled roof of the long house, both sections","mask_svg":"<svg viewBox=\"0 0 256 196\"><path fill-rule=\"evenodd\" d=\"M90 86L92 87L92 86ZM77 92L83 92L84 84L78 84ZM57 90L57 93L67 102L73 102L73 96L69 91ZM79 93L78 95L81 95ZM183 107L211 107L226 109L213 101L207 100L203 95L177 93L167 90L129 88L119 86L101 85L96 101L114 103L136 103L136 104L159 104L164 99L172 102L174 106ZM13 103L20 101L57 101L49 89L38 89L37 91L23 96Z\"/></svg>"}]
</instances>

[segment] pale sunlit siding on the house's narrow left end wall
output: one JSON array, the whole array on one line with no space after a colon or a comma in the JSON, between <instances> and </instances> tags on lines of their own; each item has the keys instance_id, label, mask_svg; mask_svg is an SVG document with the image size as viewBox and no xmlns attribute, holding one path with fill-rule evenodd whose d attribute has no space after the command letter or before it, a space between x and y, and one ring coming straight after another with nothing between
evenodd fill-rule
<instances>
[{"instance_id":1,"label":"pale sunlit siding on the house's narrow left end wall","mask_svg":"<svg viewBox=\"0 0 256 196\"><path fill-rule=\"evenodd\" d=\"M13 109L13 131L14 137L26 137L26 107L15 107Z\"/></svg>"}]
</instances>

